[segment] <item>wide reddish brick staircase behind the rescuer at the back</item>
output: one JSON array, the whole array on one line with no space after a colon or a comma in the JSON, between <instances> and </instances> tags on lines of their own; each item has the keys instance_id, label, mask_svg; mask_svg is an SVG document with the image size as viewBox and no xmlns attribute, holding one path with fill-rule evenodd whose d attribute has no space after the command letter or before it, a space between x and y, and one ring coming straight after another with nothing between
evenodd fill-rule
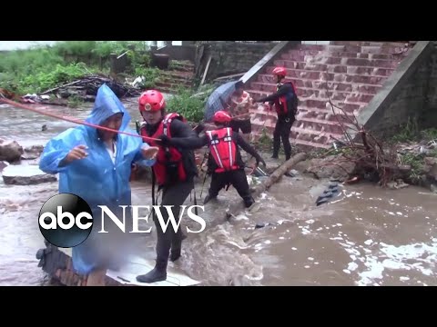
<instances>
[{"instance_id":1,"label":"wide reddish brick staircase behind the rescuer at the back","mask_svg":"<svg viewBox=\"0 0 437 327\"><path fill-rule=\"evenodd\" d=\"M411 47L404 43L332 41L330 45L298 45L279 54L279 58L261 71L246 87L254 98L276 91L271 71L276 65L288 68L288 76L300 97L299 112L291 129L293 144L304 148L329 148L343 134L338 123L344 120L340 110L332 110L329 98L348 116L358 116L379 92ZM276 113L259 105L253 111L252 127L271 131Z\"/></svg>"}]
</instances>

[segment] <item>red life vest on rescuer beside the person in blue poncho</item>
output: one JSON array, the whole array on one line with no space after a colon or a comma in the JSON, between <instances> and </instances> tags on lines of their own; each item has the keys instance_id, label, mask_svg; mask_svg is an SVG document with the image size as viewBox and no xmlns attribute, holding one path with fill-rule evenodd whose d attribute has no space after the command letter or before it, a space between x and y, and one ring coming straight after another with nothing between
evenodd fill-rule
<instances>
[{"instance_id":1,"label":"red life vest on rescuer beside the person in blue poncho","mask_svg":"<svg viewBox=\"0 0 437 327\"><path fill-rule=\"evenodd\" d=\"M171 138L170 124L173 119L179 119L185 122L185 118L180 114L172 113L166 114L164 119L159 123L157 132L153 135L148 135L143 124L140 129L140 134L152 138L158 138L159 135L166 134ZM158 185L167 183L184 182L187 178L187 173L182 162L182 154L173 146L164 147L160 142L150 140L147 142L150 146L158 146L159 151L157 155L157 163L153 165L153 172L157 178ZM172 173L177 175L172 175Z\"/></svg>"}]
</instances>

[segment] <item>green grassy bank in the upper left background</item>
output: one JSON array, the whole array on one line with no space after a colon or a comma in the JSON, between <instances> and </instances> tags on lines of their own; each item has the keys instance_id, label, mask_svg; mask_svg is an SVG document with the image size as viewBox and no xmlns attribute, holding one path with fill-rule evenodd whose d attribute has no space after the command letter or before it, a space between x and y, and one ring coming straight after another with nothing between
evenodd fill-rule
<instances>
[{"instance_id":1,"label":"green grassy bank in the upper left background","mask_svg":"<svg viewBox=\"0 0 437 327\"><path fill-rule=\"evenodd\" d=\"M11 51L0 54L0 87L19 95L37 94L84 74L107 73L110 54L125 52L127 71L136 74L150 64L146 51L143 41L64 41Z\"/></svg>"}]
</instances>

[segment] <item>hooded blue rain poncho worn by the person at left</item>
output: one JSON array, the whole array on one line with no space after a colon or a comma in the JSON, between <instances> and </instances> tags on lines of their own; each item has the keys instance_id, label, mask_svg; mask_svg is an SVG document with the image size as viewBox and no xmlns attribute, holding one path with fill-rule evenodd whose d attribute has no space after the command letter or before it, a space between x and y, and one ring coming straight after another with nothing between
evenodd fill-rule
<instances>
[{"instance_id":1,"label":"hooded blue rain poncho worn by the person at left","mask_svg":"<svg viewBox=\"0 0 437 327\"><path fill-rule=\"evenodd\" d=\"M137 134L128 127L131 118L124 105L117 95L103 84L97 91L94 108L86 122L101 124L109 116L117 113L123 113L120 131ZM87 146L87 157L63 165L61 161L66 154L81 144ZM123 233L122 237L117 237L120 236L119 229L118 234L97 234L97 231L100 231L102 215L97 205L107 205L122 220L122 209L119 205L131 204L131 163L147 166L155 163L142 156L140 149L143 145L143 140L139 137L117 134L117 153L113 163L105 144L97 134L97 129L86 125L68 129L46 144L39 168L46 173L59 173L59 193L74 193L80 196L93 211L92 233L84 243L73 248L72 259L76 272L87 274L111 264L118 266L120 260L127 257L124 249L130 241L127 239L129 231ZM108 231L108 228L106 218L105 230Z\"/></svg>"}]
</instances>

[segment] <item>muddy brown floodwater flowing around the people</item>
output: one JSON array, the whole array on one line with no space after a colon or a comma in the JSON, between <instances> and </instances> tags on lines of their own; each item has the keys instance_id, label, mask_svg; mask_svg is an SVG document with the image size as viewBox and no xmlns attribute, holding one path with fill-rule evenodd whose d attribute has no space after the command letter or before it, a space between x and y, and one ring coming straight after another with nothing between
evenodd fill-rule
<instances>
[{"instance_id":1,"label":"muddy brown floodwater flowing around the people","mask_svg":"<svg viewBox=\"0 0 437 327\"><path fill-rule=\"evenodd\" d=\"M127 103L127 108L135 127L137 106ZM78 119L88 114L62 107L47 110ZM3 104L0 117L0 138L24 147L46 144L75 126ZM188 233L181 259L170 265L202 285L437 284L437 194L412 186L391 191L361 183L341 185L336 198L316 206L327 185L305 175L284 176L250 212L230 222L225 210L239 195L232 187L222 190L217 202L198 213L207 229ZM203 202L201 187L198 183L198 203ZM132 190L134 204L151 204L150 184L135 182ZM208 180L202 197L207 192ZM36 260L36 251L44 247L37 217L56 193L57 183L18 186L0 179L0 285L46 285L46 273ZM189 197L187 204L193 204ZM198 223L188 223L198 229ZM265 227L255 228L257 223ZM153 259L154 245L155 234L147 234L138 243L138 253Z\"/></svg>"}]
</instances>

